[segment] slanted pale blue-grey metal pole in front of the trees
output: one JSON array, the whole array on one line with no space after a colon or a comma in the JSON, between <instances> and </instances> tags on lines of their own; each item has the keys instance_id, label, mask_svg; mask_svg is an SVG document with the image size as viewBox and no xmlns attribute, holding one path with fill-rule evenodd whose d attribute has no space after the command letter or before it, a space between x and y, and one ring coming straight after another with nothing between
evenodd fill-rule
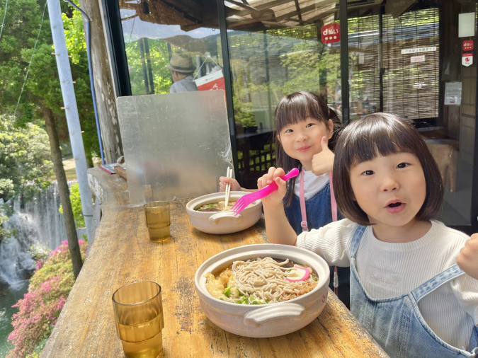
<instances>
[{"instance_id":1,"label":"slanted pale blue-grey metal pole in front of the trees","mask_svg":"<svg viewBox=\"0 0 478 358\"><path fill-rule=\"evenodd\" d=\"M86 156L83 138L81 137L78 108L76 107L76 98L74 96L72 70L69 67L67 42L64 40L62 10L59 7L59 0L47 0L47 3L48 13L50 15L50 26L52 28L53 45L55 46L54 54L57 59L59 84L62 88L64 112L67 116L69 140L72 143L81 207L85 219L86 235L89 237L93 205L91 204L91 192L88 186Z\"/></svg>"}]
</instances>

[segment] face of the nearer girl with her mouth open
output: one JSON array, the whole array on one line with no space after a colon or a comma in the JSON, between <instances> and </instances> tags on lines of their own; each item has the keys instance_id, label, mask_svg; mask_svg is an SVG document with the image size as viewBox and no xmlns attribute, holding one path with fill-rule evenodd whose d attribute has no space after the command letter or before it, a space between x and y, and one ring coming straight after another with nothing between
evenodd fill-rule
<instances>
[{"instance_id":1,"label":"face of the nearer girl with her mouth open","mask_svg":"<svg viewBox=\"0 0 478 358\"><path fill-rule=\"evenodd\" d=\"M377 156L354 166L351 185L355 200L372 224L408 224L426 197L419 158L405 152Z\"/></svg>"}]
</instances>

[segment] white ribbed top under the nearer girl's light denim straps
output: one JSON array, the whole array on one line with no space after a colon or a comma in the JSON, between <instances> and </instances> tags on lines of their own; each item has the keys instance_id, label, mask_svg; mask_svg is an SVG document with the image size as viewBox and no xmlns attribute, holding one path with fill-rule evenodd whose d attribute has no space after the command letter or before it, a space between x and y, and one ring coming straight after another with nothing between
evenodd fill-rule
<instances>
[{"instance_id":1,"label":"white ribbed top under the nearer girl's light denim straps","mask_svg":"<svg viewBox=\"0 0 478 358\"><path fill-rule=\"evenodd\" d=\"M432 220L425 236L409 243L375 238L372 226L363 233L355 262L365 290L374 299L405 294L455 265L470 237ZM331 266L350 266L350 246L358 224L348 219L301 233L297 246L317 253ZM478 280L468 275L443 284L419 301L423 319L449 345L468 349L478 324Z\"/></svg>"}]
</instances>

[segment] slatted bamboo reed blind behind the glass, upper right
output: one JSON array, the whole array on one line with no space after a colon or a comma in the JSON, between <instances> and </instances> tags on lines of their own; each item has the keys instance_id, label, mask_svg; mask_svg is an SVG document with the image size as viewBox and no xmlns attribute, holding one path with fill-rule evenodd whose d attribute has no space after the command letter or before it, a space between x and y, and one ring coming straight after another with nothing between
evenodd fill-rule
<instances>
[{"instance_id":1,"label":"slatted bamboo reed blind behind the glass, upper right","mask_svg":"<svg viewBox=\"0 0 478 358\"><path fill-rule=\"evenodd\" d=\"M349 21L351 111L360 112L359 101L370 103L370 107L380 104L378 21L378 16ZM438 8L404 13L399 18L384 15L382 25L382 111L411 120L438 117ZM436 51L402 54L402 50L421 47L436 47ZM424 55L425 61L411 63L411 57L418 55Z\"/></svg>"}]
</instances>

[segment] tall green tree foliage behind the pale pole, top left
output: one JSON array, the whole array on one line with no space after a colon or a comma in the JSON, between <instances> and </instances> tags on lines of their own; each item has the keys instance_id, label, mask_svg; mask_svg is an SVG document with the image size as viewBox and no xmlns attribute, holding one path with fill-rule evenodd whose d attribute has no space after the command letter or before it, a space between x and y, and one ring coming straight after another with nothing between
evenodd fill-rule
<instances>
[{"instance_id":1,"label":"tall green tree foliage behind the pale pole, top left","mask_svg":"<svg viewBox=\"0 0 478 358\"><path fill-rule=\"evenodd\" d=\"M0 0L4 8L5 1ZM9 0L4 30L0 39L0 103L2 110L13 113L25 79L33 46L40 28L45 0ZM75 83L76 103L85 154L89 160L99 153L98 134L86 57L86 43L81 13L62 2L63 23L69 54L72 55L72 77ZM59 139L69 142L62 92L59 86L57 64L52 52L52 36L48 11L42 24L38 45L33 55L28 80L25 83L17 111L19 124L35 122L43 125L46 110L51 110Z\"/></svg>"}]
</instances>

